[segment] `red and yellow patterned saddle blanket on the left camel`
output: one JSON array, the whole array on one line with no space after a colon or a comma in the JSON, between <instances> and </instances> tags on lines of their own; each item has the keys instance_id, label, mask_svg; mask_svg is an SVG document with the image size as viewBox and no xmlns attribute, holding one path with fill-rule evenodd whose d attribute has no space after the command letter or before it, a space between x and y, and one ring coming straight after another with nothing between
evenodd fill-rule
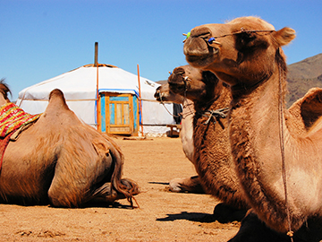
<instances>
[{"instance_id":1,"label":"red and yellow patterned saddle blanket on the left camel","mask_svg":"<svg viewBox=\"0 0 322 242\"><path fill-rule=\"evenodd\" d=\"M10 136L13 134L13 131L16 131L23 125L36 122L39 117L40 114L30 115L12 102L0 107L0 169L4 159L5 148L10 141Z\"/></svg>"}]
</instances>

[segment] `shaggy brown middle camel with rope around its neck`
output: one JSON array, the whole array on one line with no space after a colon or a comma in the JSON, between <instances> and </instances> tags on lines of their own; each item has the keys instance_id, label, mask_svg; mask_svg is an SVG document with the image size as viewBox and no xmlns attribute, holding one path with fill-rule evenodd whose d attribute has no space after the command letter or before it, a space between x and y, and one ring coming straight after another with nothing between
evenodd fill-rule
<instances>
[{"instance_id":1,"label":"shaggy brown middle camel with rope around its neck","mask_svg":"<svg viewBox=\"0 0 322 242\"><path fill-rule=\"evenodd\" d=\"M233 169L225 118L232 99L229 86L214 73L191 65L175 68L168 83L171 91L193 101L193 163L202 186L208 194L245 212L249 206Z\"/></svg>"}]
</instances>

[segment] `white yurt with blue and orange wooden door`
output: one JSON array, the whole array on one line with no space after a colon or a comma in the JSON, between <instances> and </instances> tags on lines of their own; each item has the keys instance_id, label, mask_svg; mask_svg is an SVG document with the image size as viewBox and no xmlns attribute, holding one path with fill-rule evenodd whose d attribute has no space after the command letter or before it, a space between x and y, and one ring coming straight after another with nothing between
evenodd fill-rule
<instances>
[{"instance_id":1,"label":"white yurt with blue and orange wooden door","mask_svg":"<svg viewBox=\"0 0 322 242\"><path fill-rule=\"evenodd\" d=\"M154 98L157 86L114 65L83 65L20 91L17 105L30 114L42 113L50 91L60 89L69 108L102 132L156 136L174 124L173 105L165 109Z\"/></svg>"}]
</instances>

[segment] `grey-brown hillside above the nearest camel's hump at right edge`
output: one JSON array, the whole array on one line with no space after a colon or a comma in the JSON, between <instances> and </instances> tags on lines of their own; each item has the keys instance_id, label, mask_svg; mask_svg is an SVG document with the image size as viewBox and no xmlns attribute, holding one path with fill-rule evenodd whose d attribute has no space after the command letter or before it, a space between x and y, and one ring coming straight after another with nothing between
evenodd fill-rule
<instances>
[{"instance_id":1,"label":"grey-brown hillside above the nearest camel's hump at right edge","mask_svg":"<svg viewBox=\"0 0 322 242\"><path fill-rule=\"evenodd\" d=\"M287 107L303 97L310 88L322 88L322 54L287 66Z\"/></svg>"}]
</instances>

